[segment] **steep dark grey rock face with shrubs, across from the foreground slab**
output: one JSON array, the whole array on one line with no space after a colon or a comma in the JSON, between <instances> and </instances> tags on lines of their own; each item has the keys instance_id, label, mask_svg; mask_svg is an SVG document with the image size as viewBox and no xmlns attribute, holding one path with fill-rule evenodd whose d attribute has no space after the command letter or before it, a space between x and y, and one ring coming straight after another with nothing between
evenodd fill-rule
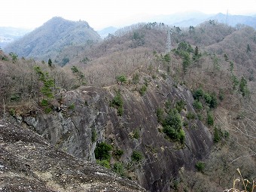
<instances>
[{"instance_id":1,"label":"steep dark grey rock face with shrubs, across from the foreground slab","mask_svg":"<svg viewBox=\"0 0 256 192\"><path fill-rule=\"evenodd\" d=\"M123 115L110 107L116 91L123 98ZM181 167L194 169L197 160L206 157L212 145L211 134L200 120L185 128L185 145L180 148L175 142L165 139L159 131L156 110L169 101L186 102L187 111L194 112L193 96L185 87L172 87L169 81L151 81L145 96L130 85L114 87L81 87L63 94L64 111L23 117L23 122L57 148L75 157L95 161L97 142L108 142L124 151L120 161L129 163L133 151L142 151L145 160L135 169L136 179L148 190L168 191L169 181ZM72 107L70 107L72 106ZM131 137L139 130L139 138ZM96 133L93 141L92 134ZM111 160L114 161L114 160Z\"/></svg>"}]
</instances>

